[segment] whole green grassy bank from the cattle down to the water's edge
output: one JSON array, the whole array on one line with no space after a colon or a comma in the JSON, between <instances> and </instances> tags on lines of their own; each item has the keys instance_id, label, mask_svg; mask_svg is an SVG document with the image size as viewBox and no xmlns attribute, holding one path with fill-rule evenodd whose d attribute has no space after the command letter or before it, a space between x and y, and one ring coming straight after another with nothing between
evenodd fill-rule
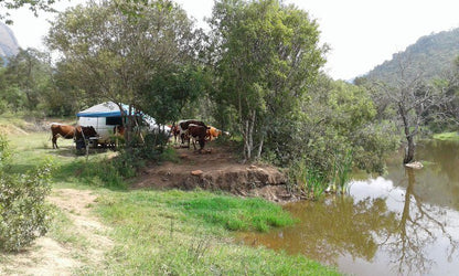
<instances>
[{"instance_id":1,"label":"whole green grassy bank from the cattle down to the water's edge","mask_svg":"<svg viewBox=\"0 0 459 276\"><path fill-rule=\"evenodd\" d=\"M241 199L206 191L129 191L113 170L114 152L76 156L71 140L51 148L47 132L9 135L15 151L12 171L24 172L49 159L54 187L92 190L92 206L110 229L114 247L103 263L85 262L85 245L73 236L63 212L50 236L79 247L84 263L78 275L335 275L303 256L288 256L234 241L234 231L269 231L293 223L279 205L260 199ZM126 183L126 182L124 182ZM116 187L117 189L114 189Z\"/></svg>"}]
</instances>

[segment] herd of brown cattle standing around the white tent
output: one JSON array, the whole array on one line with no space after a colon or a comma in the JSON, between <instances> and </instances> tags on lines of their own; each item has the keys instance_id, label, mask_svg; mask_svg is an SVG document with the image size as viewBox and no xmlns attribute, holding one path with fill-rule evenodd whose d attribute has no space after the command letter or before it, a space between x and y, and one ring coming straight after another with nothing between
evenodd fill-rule
<instances>
[{"instance_id":1,"label":"herd of brown cattle standing around the white tent","mask_svg":"<svg viewBox=\"0 0 459 276\"><path fill-rule=\"evenodd\" d=\"M204 146L207 141L212 141L222 135L230 135L227 131L222 131L215 127L207 126L201 120L188 119L180 120L177 124L169 126L170 131L168 136L171 138L174 137L174 142L178 142L180 139L180 145L190 148L190 144L193 145L193 148L196 149L195 144L199 142L201 152L204 149ZM53 123L51 124L51 135L53 149L57 147L57 138L62 137L64 139L74 139L76 142L76 148L82 148L78 145L86 145L87 140L94 139L97 140L97 131L93 126L70 126ZM116 126L114 128L114 135L124 135L124 128L121 126ZM84 147L84 146L83 146Z\"/></svg>"}]
</instances>

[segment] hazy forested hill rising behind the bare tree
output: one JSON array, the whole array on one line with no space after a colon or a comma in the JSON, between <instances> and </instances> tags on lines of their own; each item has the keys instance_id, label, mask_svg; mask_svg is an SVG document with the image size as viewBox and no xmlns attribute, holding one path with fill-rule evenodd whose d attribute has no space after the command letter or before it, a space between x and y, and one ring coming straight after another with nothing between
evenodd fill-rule
<instances>
[{"instance_id":1,"label":"hazy forested hill rising behind the bare tree","mask_svg":"<svg viewBox=\"0 0 459 276\"><path fill-rule=\"evenodd\" d=\"M393 54L370 71L365 77L391 83L398 77L398 61L410 61L412 74L421 73L427 79L440 77L459 56L459 28L421 36L405 51Z\"/></svg>"}]
</instances>

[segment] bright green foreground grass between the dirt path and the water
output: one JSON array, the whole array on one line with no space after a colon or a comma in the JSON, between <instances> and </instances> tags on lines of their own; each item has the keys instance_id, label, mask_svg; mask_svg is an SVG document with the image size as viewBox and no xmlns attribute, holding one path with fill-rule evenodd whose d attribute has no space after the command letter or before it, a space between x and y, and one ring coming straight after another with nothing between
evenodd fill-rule
<instances>
[{"instance_id":1,"label":"bright green foreground grass between the dirt path and the water","mask_svg":"<svg viewBox=\"0 0 459 276\"><path fill-rule=\"evenodd\" d=\"M244 214L241 224L256 225L264 208L277 215L263 220L286 216L273 203L203 191L107 193L98 212L115 225L111 238L119 245L109 253L110 270L93 269L116 275L337 275L303 256L234 243L223 217Z\"/></svg>"}]
</instances>

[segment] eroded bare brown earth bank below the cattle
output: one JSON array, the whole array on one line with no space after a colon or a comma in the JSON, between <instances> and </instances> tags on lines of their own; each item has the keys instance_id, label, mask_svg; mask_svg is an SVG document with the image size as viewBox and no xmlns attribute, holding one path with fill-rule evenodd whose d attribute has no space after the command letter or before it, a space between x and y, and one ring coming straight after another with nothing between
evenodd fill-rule
<instances>
[{"instance_id":1,"label":"eroded bare brown earth bank below the cattle","mask_svg":"<svg viewBox=\"0 0 459 276\"><path fill-rule=\"evenodd\" d=\"M145 168L131 188L203 189L225 191L241 197L263 198L271 202L297 201L287 187L287 177L266 163L241 163L234 149L209 142L211 153L198 153L171 146L172 161Z\"/></svg>"}]
</instances>

